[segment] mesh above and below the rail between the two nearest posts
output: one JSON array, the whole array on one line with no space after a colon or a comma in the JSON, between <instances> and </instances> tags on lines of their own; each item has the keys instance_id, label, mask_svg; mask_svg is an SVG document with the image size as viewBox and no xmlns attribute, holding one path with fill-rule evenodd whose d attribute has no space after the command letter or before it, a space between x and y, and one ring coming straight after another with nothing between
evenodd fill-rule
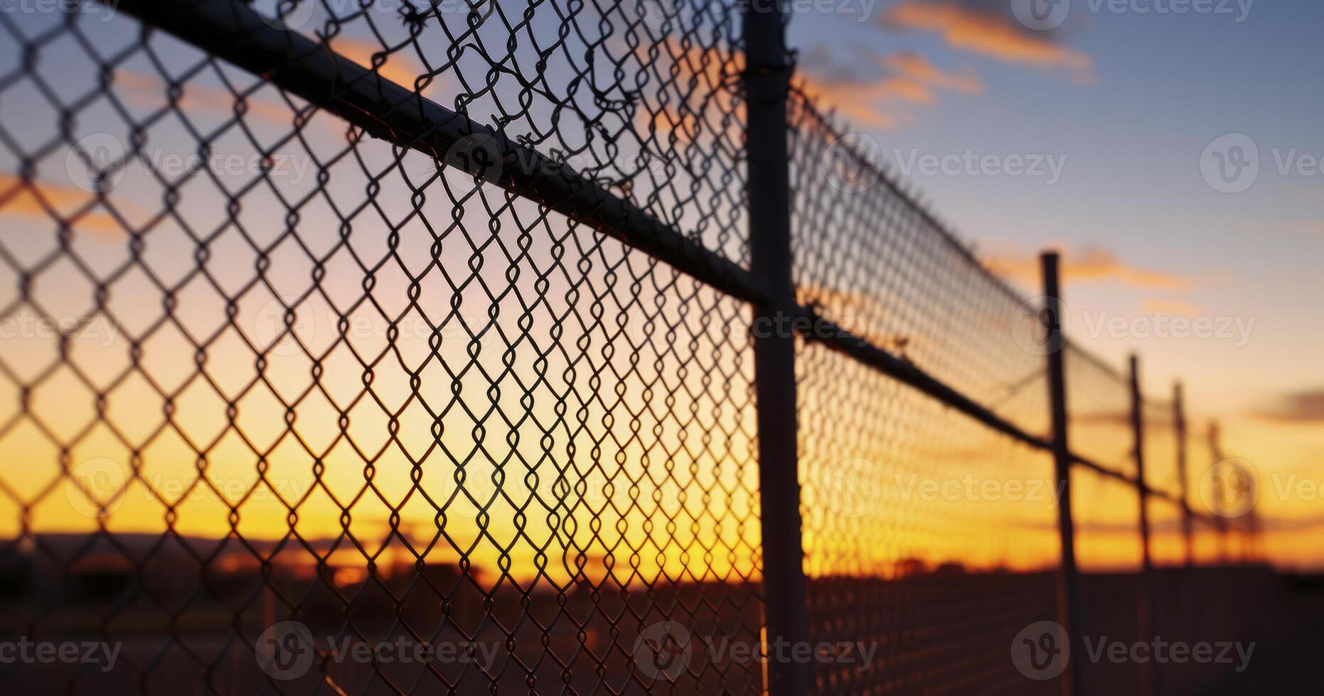
<instances>
[{"instance_id":1,"label":"mesh above and below the rail between the two nearest posts","mask_svg":"<svg viewBox=\"0 0 1324 696\"><path fill-rule=\"evenodd\" d=\"M1046 361L1014 340L1025 302L800 93L790 118L801 303L1045 431ZM1051 457L821 345L798 364L812 639L886 654L867 674L820 667L818 692L1058 691L1008 659L1057 618Z\"/></svg>"}]
</instances>

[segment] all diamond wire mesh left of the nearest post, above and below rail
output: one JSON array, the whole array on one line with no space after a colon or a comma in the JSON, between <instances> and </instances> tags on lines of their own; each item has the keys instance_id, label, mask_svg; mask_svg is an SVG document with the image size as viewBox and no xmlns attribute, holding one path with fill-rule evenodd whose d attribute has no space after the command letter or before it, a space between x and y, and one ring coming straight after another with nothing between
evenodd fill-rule
<instances>
[{"instance_id":1,"label":"all diamond wire mesh left of the nearest post, above and below rail","mask_svg":"<svg viewBox=\"0 0 1324 696\"><path fill-rule=\"evenodd\" d=\"M636 9L275 15L739 259L732 11ZM741 303L127 16L0 22L4 634L124 646L11 688L761 688L637 659L759 640Z\"/></svg>"}]
</instances>

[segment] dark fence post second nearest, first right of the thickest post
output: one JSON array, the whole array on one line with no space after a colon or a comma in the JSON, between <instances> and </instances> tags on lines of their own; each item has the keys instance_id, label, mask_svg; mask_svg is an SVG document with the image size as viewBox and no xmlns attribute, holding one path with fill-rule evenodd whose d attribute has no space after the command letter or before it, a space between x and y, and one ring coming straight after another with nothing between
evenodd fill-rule
<instances>
[{"instance_id":1,"label":"dark fence post second nearest, first right of the thickest post","mask_svg":"<svg viewBox=\"0 0 1324 696\"><path fill-rule=\"evenodd\" d=\"M1043 270L1045 348L1049 353L1049 405L1053 417L1053 464L1062 501L1058 505L1058 533L1062 537L1062 573L1058 584L1058 621L1064 623L1071 642L1067 679L1062 689L1079 695L1080 663L1084 640L1080 639L1080 573L1075 562L1075 528L1071 520L1071 446L1067 441L1067 376L1066 333L1062 331L1062 288L1058 279L1058 255L1039 257Z\"/></svg>"}]
</instances>

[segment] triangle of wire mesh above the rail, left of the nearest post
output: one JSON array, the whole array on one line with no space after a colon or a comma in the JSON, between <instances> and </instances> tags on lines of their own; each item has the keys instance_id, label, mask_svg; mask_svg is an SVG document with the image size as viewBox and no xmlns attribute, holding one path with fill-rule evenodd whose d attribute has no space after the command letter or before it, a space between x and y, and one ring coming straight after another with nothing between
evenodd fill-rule
<instances>
[{"instance_id":1,"label":"triangle of wire mesh above the rail, left of the nearest post","mask_svg":"<svg viewBox=\"0 0 1324 696\"><path fill-rule=\"evenodd\" d=\"M343 56L744 259L736 4L266 4Z\"/></svg>"}]
</instances>

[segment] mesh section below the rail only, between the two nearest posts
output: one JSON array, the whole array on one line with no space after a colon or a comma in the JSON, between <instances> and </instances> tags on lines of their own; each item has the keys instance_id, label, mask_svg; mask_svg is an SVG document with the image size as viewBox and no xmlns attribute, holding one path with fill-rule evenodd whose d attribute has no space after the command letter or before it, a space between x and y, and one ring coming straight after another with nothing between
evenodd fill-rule
<instances>
[{"instance_id":1,"label":"mesh section below the rail only, between the two nearest posts","mask_svg":"<svg viewBox=\"0 0 1324 696\"><path fill-rule=\"evenodd\" d=\"M1008 659L1057 615L1051 458L820 345L798 363L810 639L882 652L816 692L1055 692Z\"/></svg>"}]
</instances>

